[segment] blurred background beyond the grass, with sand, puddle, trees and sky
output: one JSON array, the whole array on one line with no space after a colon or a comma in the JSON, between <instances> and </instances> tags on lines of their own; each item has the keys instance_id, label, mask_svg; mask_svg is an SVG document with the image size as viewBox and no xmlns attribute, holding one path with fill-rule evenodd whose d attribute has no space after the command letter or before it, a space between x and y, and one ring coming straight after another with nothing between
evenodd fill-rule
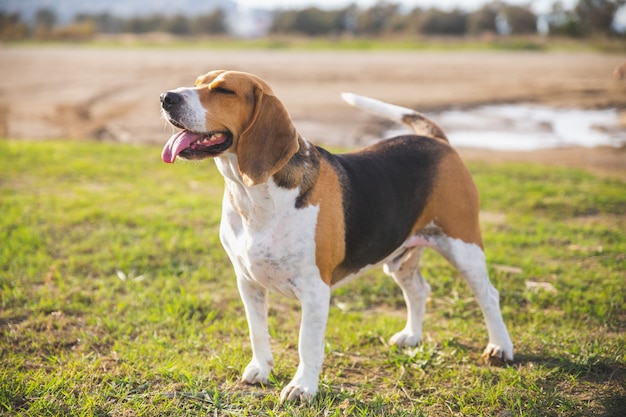
<instances>
[{"instance_id":1,"label":"blurred background beyond the grass, with sand, puddle, trees and sky","mask_svg":"<svg viewBox=\"0 0 626 417\"><path fill-rule=\"evenodd\" d=\"M224 68L265 78L316 143L401 132L342 103L352 91L462 148L618 152L624 3L0 0L0 136L162 143L160 92Z\"/></svg>"}]
</instances>

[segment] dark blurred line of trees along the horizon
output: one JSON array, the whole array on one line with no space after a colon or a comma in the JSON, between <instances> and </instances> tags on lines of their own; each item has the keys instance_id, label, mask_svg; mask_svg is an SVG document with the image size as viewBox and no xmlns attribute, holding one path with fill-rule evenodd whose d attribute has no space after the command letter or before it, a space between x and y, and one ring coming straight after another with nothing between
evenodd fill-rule
<instances>
[{"instance_id":1,"label":"dark blurred line of trees along the horizon","mask_svg":"<svg viewBox=\"0 0 626 417\"><path fill-rule=\"evenodd\" d=\"M537 16L529 6L492 0L479 9L451 11L438 8L404 10L382 0L369 8L350 5L337 9L307 7L276 10L268 28L271 35L299 36L476 36L551 34L569 37L618 35L612 26L625 0L578 0L571 9L555 1L549 13ZM79 14L59 25L50 9L37 12L26 24L17 14L0 11L0 39L90 39L98 33L165 32L178 36L228 35L228 16L222 10L198 16L149 15L119 17L109 13ZM619 34L623 36L623 34Z\"/></svg>"}]
</instances>

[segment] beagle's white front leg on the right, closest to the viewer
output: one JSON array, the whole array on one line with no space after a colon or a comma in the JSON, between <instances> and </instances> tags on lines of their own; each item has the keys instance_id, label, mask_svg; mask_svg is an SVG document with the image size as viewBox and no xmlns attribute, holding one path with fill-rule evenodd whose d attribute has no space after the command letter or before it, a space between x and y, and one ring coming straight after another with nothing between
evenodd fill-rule
<instances>
[{"instance_id":1,"label":"beagle's white front leg on the right, closest to the viewer","mask_svg":"<svg viewBox=\"0 0 626 417\"><path fill-rule=\"evenodd\" d=\"M307 288L296 289L296 295L302 305L298 340L300 363L295 376L280 394L281 403L293 400L310 401L317 392L324 361L324 338L328 321L330 287L319 277L309 279L306 284Z\"/></svg>"}]
</instances>

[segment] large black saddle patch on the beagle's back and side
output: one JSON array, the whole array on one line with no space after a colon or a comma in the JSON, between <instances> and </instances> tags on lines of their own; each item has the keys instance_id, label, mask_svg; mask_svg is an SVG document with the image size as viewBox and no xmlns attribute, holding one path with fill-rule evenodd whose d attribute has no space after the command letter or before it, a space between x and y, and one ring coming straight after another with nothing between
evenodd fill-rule
<instances>
[{"instance_id":1,"label":"large black saddle patch on the beagle's back and side","mask_svg":"<svg viewBox=\"0 0 626 417\"><path fill-rule=\"evenodd\" d=\"M346 255L340 271L355 273L378 263L407 239L450 152L431 137L404 135L357 152L327 154L344 194Z\"/></svg>"}]
</instances>

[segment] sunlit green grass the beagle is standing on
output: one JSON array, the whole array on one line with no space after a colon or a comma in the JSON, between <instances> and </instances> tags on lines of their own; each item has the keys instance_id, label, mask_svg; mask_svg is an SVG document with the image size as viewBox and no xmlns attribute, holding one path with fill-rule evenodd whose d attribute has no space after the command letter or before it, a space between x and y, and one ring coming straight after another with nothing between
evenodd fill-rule
<instances>
[{"instance_id":1,"label":"sunlit green grass the beagle is standing on","mask_svg":"<svg viewBox=\"0 0 626 417\"><path fill-rule=\"evenodd\" d=\"M333 295L320 394L280 406L298 306L272 297L271 384L241 385L251 351L218 239L222 179L159 154L0 141L0 414L626 415L624 182L470 165L515 363L480 363L480 310L427 253L425 343L388 346L402 296L370 273Z\"/></svg>"}]
</instances>

